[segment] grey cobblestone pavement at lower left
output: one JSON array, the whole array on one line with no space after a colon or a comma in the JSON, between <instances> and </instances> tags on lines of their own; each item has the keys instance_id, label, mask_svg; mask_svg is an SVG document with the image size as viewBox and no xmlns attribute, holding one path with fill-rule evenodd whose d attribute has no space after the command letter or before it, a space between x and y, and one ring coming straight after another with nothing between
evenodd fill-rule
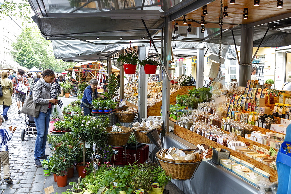
<instances>
[{"instance_id":1,"label":"grey cobblestone pavement at lower left","mask_svg":"<svg viewBox=\"0 0 291 194\"><path fill-rule=\"evenodd\" d=\"M64 105L74 100L74 98L62 99ZM1 171L0 193L44 193L44 188L51 185L54 186L54 191L58 191L58 193L71 188L72 186L69 185L58 187L56 182L54 182L53 175L45 177L42 168L34 166L33 155L36 136L26 135L24 141L21 141L21 130L26 127L25 115L17 113L18 108L14 99L12 100L12 104L8 110L8 118L10 121L5 121L1 127L7 129L10 126L17 127L11 141L8 142L10 174L13 179L13 184L7 184L3 181L3 172ZM0 106L0 114L2 114L2 106ZM49 155L48 147L46 154ZM68 179L68 183L76 182L77 177L78 175L75 171L74 177Z\"/></svg>"}]
</instances>

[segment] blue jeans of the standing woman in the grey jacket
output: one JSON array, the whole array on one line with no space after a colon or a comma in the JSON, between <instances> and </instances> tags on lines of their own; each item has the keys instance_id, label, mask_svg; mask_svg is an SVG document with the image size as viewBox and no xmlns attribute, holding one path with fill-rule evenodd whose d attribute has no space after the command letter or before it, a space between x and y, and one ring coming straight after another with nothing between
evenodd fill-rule
<instances>
[{"instance_id":1,"label":"blue jeans of the standing woman in the grey jacket","mask_svg":"<svg viewBox=\"0 0 291 194\"><path fill-rule=\"evenodd\" d=\"M36 143L34 147L35 159L40 159L45 155L45 145L47 143L47 131L49 130L49 116L51 114L51 108L47 109L47 113L39 112L38 118L34 118L36 124Z\"/></svg>"}]
</instances>

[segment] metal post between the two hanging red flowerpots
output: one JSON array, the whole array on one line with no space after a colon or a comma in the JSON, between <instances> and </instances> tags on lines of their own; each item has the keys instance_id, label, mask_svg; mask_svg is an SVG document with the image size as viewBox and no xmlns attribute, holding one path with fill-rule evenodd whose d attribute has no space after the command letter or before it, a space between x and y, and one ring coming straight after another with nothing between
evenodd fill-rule
<instances>
[{"instance_id":1,"label":"metal post between the two hanging red flowerpots","mask_svg":"<svg viewBox=\"0 0 291 194\"><path fill-rule=\"evenodd\" d=\"M139 60L146 59L146 47L139 46ZM148 100L148 80L146 79L145 70L142 66L139 65L139 122L141 122L142 118L147 118L147 100Z\"/></svg>"}]
</instances>

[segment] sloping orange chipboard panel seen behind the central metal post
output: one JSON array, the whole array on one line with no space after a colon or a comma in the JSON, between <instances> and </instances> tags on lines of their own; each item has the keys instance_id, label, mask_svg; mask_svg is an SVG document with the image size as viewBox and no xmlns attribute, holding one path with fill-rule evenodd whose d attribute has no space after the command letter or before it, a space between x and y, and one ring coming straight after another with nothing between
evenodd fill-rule
<instances>
[{"instance_id":1,"label":"sloping orange chipboard panel seen behind the central metal post","mask_svg":"<svg viewBox=\"0 0 291 194\"><path fill-rule=\"evenodd\" d=\"M176 96L188 93L188 90L193 89L195 86L183 86L173 94L170 95L170 104L176 104ZM148 108L148 116L161 116L162 100Z\"/></svg>"}]
</instances>

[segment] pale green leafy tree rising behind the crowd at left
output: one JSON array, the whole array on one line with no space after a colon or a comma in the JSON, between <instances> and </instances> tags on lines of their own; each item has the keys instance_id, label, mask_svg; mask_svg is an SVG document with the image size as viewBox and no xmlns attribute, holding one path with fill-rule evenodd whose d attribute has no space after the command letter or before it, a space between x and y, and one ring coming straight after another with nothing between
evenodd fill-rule
<instances>
[{"instance_id":1,"label":"pale green leafy tree rising behind the crowd at left","mask_svg":"<svg viewBox=\"0 0 291 194\"><path fill-rule=\"evenodd\" d=\"M40 35L37 27L23 28L17 41L12 43L12 47L15 50L12 52L15 61L21 64L22 59L22 65L29 69L36 66L38 69L52 69L61 72L73 66L70 62L66 63L61 59L55 60L51 42Z\"/></svg>"}]
</instances>

